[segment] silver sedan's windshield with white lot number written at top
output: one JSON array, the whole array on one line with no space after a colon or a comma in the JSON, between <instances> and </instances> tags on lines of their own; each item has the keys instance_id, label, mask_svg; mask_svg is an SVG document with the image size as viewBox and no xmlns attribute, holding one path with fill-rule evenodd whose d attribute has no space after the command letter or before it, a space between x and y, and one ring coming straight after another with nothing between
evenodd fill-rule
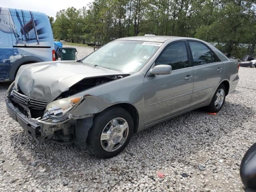
<instances>
[{"instance_id":1,"label":"silver sedan's windshield with white lot number written at top","mask_svg":"<svg viewBox=\"0 0 256 192\"><path fill-rule=\"evenodd\" d=\"M116 40L93 52L82 62L125 73L135 73L145 66L161 45L162 43L158 42Z\"/></svg>"}]
</instances>

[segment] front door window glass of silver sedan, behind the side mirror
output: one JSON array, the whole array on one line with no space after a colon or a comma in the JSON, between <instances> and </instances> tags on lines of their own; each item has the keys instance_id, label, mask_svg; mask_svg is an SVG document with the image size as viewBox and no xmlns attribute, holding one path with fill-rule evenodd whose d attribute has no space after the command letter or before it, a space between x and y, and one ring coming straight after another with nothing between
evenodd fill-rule
<instances>
[{"instance_id":1,"label":"front door window glass of silver sedan, behind the side mirror","mask_svg":"<svg viewBox=\"0 0 256 192\"><path fill-rule=\"evenodd\" d=\"M188 67L188 54L185 42L176 42L166 46L166 49L156 59L155 65L171 65L172 70Z\"/></svg>"}]
</instances>

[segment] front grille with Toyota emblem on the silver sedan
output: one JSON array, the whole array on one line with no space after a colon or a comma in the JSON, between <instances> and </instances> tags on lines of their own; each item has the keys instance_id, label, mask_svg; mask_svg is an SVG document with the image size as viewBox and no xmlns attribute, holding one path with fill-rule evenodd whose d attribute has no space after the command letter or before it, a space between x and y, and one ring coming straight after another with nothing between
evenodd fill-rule
<instances>
[{"instance_id":1,"label":"front grille with Toyota emblem on the silver sedan","mask_svg":"<svg viewBox=\"0 0 256 192\"><path fill-rule=\"evenodd\" d=\"M22 95L15 90L13 90L13 96L17 101L21 102L22 104L24 104L32 109L44 109L47 105L47 101L33 99L26 95ZM27 101L27 102L25 102L25 101Z\"/></svg>"}]
</instances>

